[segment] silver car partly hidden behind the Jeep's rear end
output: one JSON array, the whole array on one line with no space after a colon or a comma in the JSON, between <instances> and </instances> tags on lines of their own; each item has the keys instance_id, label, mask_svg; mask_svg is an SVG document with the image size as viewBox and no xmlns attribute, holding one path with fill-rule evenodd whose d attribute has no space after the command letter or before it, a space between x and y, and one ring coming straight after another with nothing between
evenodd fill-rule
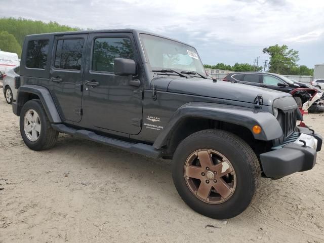
<instances>
[{"instance_id":1,"label":"silver car partly hidden behind the Jeep's rear end","mask_svg":"<svg viewBox=\"0 0 324 243\"><path fill-rule=\"evenodd\" d=\"M20 86L20 66L16 66L3 74L3 91L8 104L16 100L17 90Z\"/></svg>"}]
</instances>

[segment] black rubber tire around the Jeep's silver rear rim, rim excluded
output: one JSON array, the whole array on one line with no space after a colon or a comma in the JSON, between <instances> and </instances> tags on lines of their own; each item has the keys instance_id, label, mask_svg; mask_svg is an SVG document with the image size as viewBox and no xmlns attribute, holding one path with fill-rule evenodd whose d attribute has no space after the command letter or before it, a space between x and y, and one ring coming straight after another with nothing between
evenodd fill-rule
<instances>
[{"instance_id":1,"label":"black rubber tire around the Jeep's silver rear rim, rim excluded","mask_svg":"<svg viewBox=\"0 0 324 243\"><path fill-rule=\"evenodd\" d=\"M31 141L28 139L24 130L24 117L26 112L31 109L37 112L39 122L41 124L41 132L39 133L39 137L36 141ZM24 104L20 113L19 125L20 134L23 141L32 150L39 151L52 148L57 141L59 133L51 127L50 120L47 117L41 101L39 100L29 100Z\"/></svg>"}]
</instances>

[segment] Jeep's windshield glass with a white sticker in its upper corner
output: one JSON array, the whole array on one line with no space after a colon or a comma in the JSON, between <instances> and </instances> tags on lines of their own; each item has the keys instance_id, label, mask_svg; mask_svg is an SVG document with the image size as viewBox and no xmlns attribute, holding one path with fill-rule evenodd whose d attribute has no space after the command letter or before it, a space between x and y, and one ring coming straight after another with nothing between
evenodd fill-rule
<instances>
[{"instance_id":1,"label":"Jeep's windshield glass with a white sticker in its upper corner","mask_svg":"<svg viewBox=\"0 0 324 243\"><path fill-rule=\"evenodd\" d=\"M206 76L197 51L185 44L149 34L140 34L146 59L151 69L179 69Z\"/></svg>"}]
</instances>

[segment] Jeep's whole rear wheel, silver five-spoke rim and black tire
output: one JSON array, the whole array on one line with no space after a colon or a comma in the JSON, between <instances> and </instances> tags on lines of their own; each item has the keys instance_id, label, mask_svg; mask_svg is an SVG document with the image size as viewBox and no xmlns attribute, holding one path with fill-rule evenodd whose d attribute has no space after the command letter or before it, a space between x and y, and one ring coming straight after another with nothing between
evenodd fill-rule
<instances>
[{"instance_id":1,"label":"Jeep's whole rear wheel, silver five-spoke rim and black tire","mask_svg":"<svg viewBox=\"0 0 324 243\"><path fill-rule=\"evenodd\" d=\"M32 150L44 150L53 147L58 132L51 123L41 101L27 101L20 114L20 134L25 144Z\"/></svg>"}]
</instances>

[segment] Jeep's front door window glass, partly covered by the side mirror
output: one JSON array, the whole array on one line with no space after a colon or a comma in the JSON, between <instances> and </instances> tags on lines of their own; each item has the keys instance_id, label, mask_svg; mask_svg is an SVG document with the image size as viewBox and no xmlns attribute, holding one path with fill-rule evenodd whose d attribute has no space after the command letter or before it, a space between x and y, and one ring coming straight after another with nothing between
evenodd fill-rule
<instances>
[{"instance_id":1,"label":"Jeep's front door window glass, partly covered by the side mirror","mask_svg":"<svg viewBox=\"0 0 324 243\"><path fill-rule=\"evenodd\" d=\"M92 55L92 70L114 71L115 58L134 59L132 42L126 37L96 38Z\"/></svg>"}]
</instances>

